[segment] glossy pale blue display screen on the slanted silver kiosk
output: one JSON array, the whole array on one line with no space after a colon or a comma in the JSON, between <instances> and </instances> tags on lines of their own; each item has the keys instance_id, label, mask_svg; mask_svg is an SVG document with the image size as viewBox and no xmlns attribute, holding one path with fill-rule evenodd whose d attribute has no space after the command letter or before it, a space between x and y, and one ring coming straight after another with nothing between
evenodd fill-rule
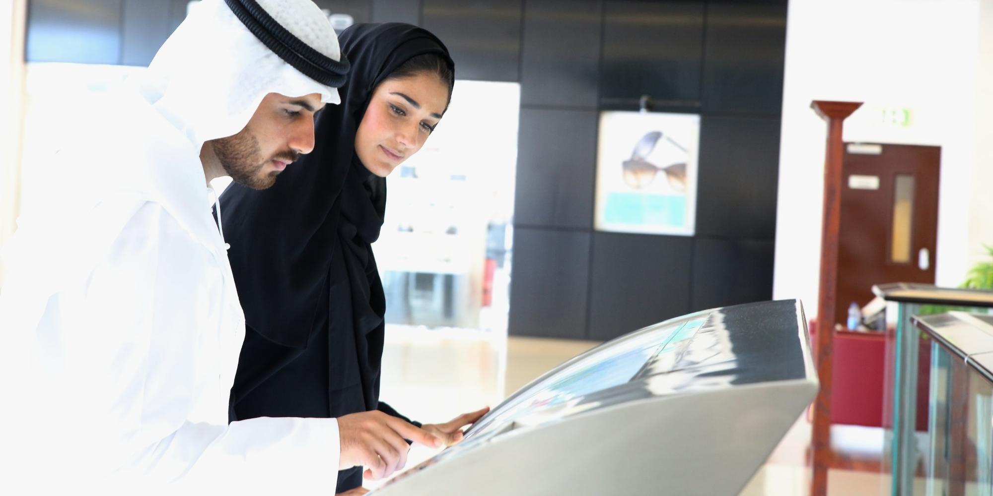
<instances>
[{"instance_id":1,"label":"glossy pale blue display screen on the slanted silver kiosk","mask_svg":"<svg viewBox=\"0 0 993 496\"><path fill-rule=\"evenodd\" d=\"M692 338L706 319L707 315L700 315L645 329L639 335L598 350L497 407L466 437L536 412L554 410L556 406L625 384L636 377L658 373L661 371L659 363L675 363L678 350L682 349L679 344Z\"/></svg>"}]
</instances>

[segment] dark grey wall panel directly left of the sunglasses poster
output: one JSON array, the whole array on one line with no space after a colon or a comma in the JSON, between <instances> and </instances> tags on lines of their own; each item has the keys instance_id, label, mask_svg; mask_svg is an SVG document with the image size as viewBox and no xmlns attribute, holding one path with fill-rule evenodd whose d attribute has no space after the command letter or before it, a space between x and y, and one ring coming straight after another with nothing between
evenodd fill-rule
<instances>
[{"instance_id":1,"label":"dark grey wall panel directly left of the sunglasses poster","mask_svg":"<svg viewBox=\"0 0 993 496\"><path fill-rule=\"evenodd\" d=\"M597 112L520 110L515 225L590 229Z\"/></svg>"}]
</instances>

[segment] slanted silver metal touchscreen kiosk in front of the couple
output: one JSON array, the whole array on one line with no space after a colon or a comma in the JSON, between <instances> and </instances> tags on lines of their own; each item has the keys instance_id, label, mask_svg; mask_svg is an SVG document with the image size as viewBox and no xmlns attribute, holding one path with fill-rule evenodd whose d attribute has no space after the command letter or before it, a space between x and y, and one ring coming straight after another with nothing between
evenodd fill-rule
<instances>
[{"instance_id":1,"label":"slanted silver metal touchscreen kiosk in front of the couple","mask_svg":"<svg viewBox=\"0 0 993 496\"><path fill-rule=\"evenodd\" d=\"M804 322L790 300L624 335L370 494L738 494L816 394Z\"/></svg>"}]
</instances>

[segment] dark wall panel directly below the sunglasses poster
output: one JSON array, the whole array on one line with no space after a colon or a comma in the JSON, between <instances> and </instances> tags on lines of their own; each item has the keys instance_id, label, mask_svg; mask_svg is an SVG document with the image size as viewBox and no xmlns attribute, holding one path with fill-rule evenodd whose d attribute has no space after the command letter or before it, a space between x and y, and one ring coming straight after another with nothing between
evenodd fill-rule
<instances>
[{"instance_id":1,"label":"dark wall panel directly below the sunglasses poster","mask_svg":"<svg viewBox=\"0 0 993 496\"><path fill-rule=\"evenodd\" d=\"M692 241L595 232L589 337L611 339L689 311Z\"/></svg>"}]
</instances>

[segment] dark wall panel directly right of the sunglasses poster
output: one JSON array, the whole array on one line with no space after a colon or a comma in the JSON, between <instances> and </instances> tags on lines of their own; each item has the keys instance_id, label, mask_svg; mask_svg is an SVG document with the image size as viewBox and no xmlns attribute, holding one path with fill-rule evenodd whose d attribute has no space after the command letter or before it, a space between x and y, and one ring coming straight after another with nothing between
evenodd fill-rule
<instances>
[{"instance_id":1,"label":"dark wall panel directly right of the sunglasses poster","mask_svg":"<svg viewBox=\"0 0 993 496\"><path fill-rule=\"evenodd\" d=\"M700 120L696 234L776 237L779 117Z\"/></svg>"}]
</instances>

